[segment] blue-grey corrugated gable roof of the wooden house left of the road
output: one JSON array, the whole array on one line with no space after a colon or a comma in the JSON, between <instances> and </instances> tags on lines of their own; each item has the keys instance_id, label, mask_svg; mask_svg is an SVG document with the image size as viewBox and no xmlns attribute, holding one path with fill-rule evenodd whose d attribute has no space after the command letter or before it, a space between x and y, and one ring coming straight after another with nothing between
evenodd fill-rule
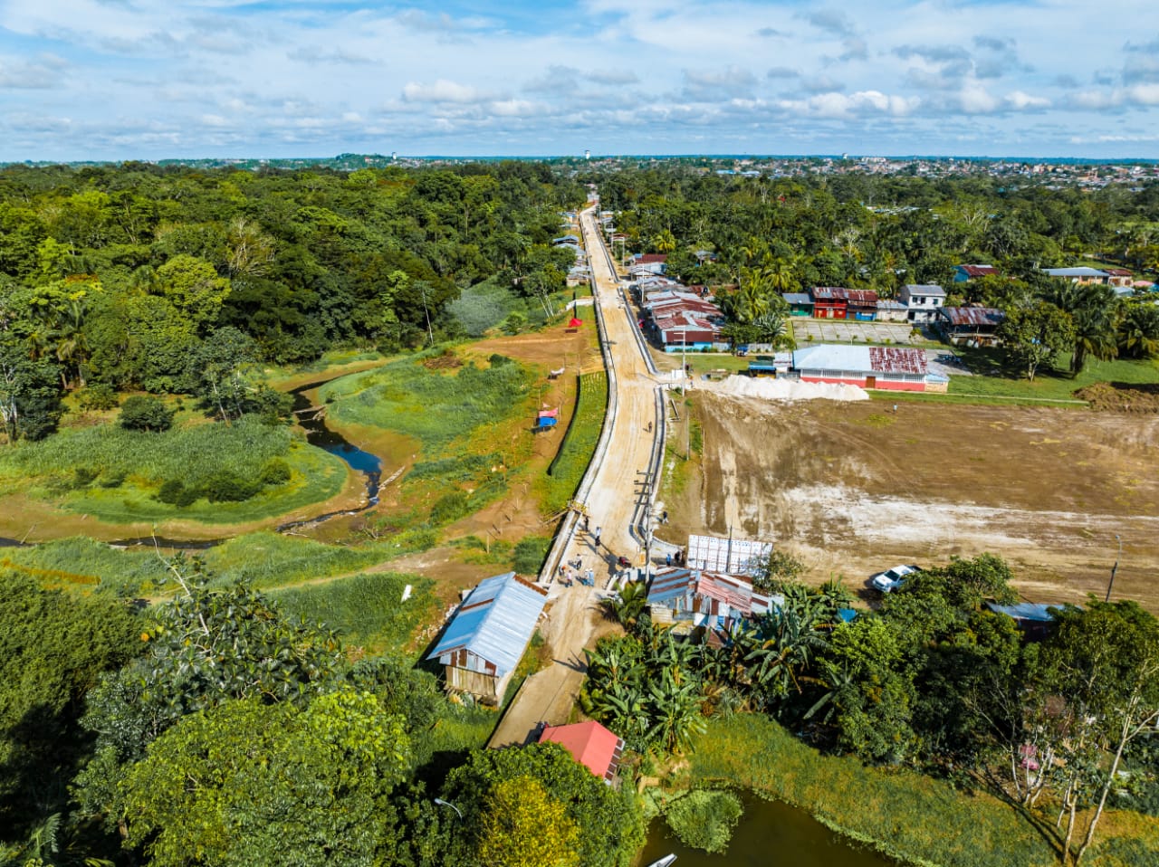
<instances>
[{"instance_id":1,"label":"blue-grey corrugated gable roof of the wooden house left of the road","mask_svg":"<svg viewBox=\"0 0 1159 867\"><path fill-rule=\"evenodd\" d=\"M466 649L494 664L497 676L503 677L527 649L546 602L546 591L519 580L513 571L481 581L427 658Z\"/></svg>"}]
</instances>

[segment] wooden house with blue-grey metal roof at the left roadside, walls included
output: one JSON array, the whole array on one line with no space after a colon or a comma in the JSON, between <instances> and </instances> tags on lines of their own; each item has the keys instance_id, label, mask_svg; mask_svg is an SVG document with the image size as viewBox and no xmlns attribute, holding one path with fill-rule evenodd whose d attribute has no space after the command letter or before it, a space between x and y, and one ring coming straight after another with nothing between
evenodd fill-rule
<instances>
[{"instance_id":1,"label":"wooden house with blue-grey metal roof at the left roadside, walls included","mask_svg":"<svg viewBox=\"0 0 1159 867\"><path fill-rule=\"evenodd\" d=\"M547 590L513 571L480 582L427 657L443 665L447 691L500 704L546 603Z\"/></svg>"}]
</instances>

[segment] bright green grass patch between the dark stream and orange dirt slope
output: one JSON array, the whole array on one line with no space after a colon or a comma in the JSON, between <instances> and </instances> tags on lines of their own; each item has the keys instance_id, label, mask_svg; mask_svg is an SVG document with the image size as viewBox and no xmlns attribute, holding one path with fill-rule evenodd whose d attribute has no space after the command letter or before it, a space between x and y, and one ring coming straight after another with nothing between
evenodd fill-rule
<instances>
[{"instance_id":1,"label":"bright green grass patch between the dark stream and orange dirt slope","mask_svg":"<svg viewBox=\"0 0 1159 867\"><path fill-rule=\"evenodd\" d=\"M487 425L530 415L534 374L515 362L453 371L429 370L432 352L392 362L320 389L330 417L415 437L427 456L466 440Z\"/></svg>"}]
</instances>

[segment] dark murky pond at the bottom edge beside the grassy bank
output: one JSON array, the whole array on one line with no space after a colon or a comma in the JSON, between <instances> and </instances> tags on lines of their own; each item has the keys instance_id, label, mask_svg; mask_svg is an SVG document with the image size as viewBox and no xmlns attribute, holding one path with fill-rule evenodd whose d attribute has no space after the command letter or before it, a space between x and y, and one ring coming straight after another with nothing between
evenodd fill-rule
<instances>
[{"instance_id":1,"label":"dark murky pond at the bottom edge beside the grassy bank","mask_svg":"<svg viewBox=\"0 0 1159 867\"><path fill-rule=\"evenodd\" d=\"M647 867L676 854L673 867L891 867L895 862L833 833L804 810L744 794L744 817L723 854L684 846L664 819L648 829L640 859Z\"/></svg>"}]
</instances>

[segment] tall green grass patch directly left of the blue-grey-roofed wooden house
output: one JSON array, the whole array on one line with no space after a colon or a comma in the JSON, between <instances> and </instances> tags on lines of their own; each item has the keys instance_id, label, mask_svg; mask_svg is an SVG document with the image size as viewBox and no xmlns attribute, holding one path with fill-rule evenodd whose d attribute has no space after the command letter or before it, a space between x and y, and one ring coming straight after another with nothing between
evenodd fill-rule
<instances>
[{"instance_id":1,"label":"tall green grass patch directly left of the blue-grey-roofed wooden house","mask_svg":"<svg viewBox=\"0 0 1159 867\"><path fill-rule=\"evenodd\" d=\"M402 602L407 584L410 597ZM381 654L410 650L415 633L435 611L433 585L415 575L373 573L275 590L271 596L287 613L336 629L348 647Z\"/></svg>"}]
</instances>

